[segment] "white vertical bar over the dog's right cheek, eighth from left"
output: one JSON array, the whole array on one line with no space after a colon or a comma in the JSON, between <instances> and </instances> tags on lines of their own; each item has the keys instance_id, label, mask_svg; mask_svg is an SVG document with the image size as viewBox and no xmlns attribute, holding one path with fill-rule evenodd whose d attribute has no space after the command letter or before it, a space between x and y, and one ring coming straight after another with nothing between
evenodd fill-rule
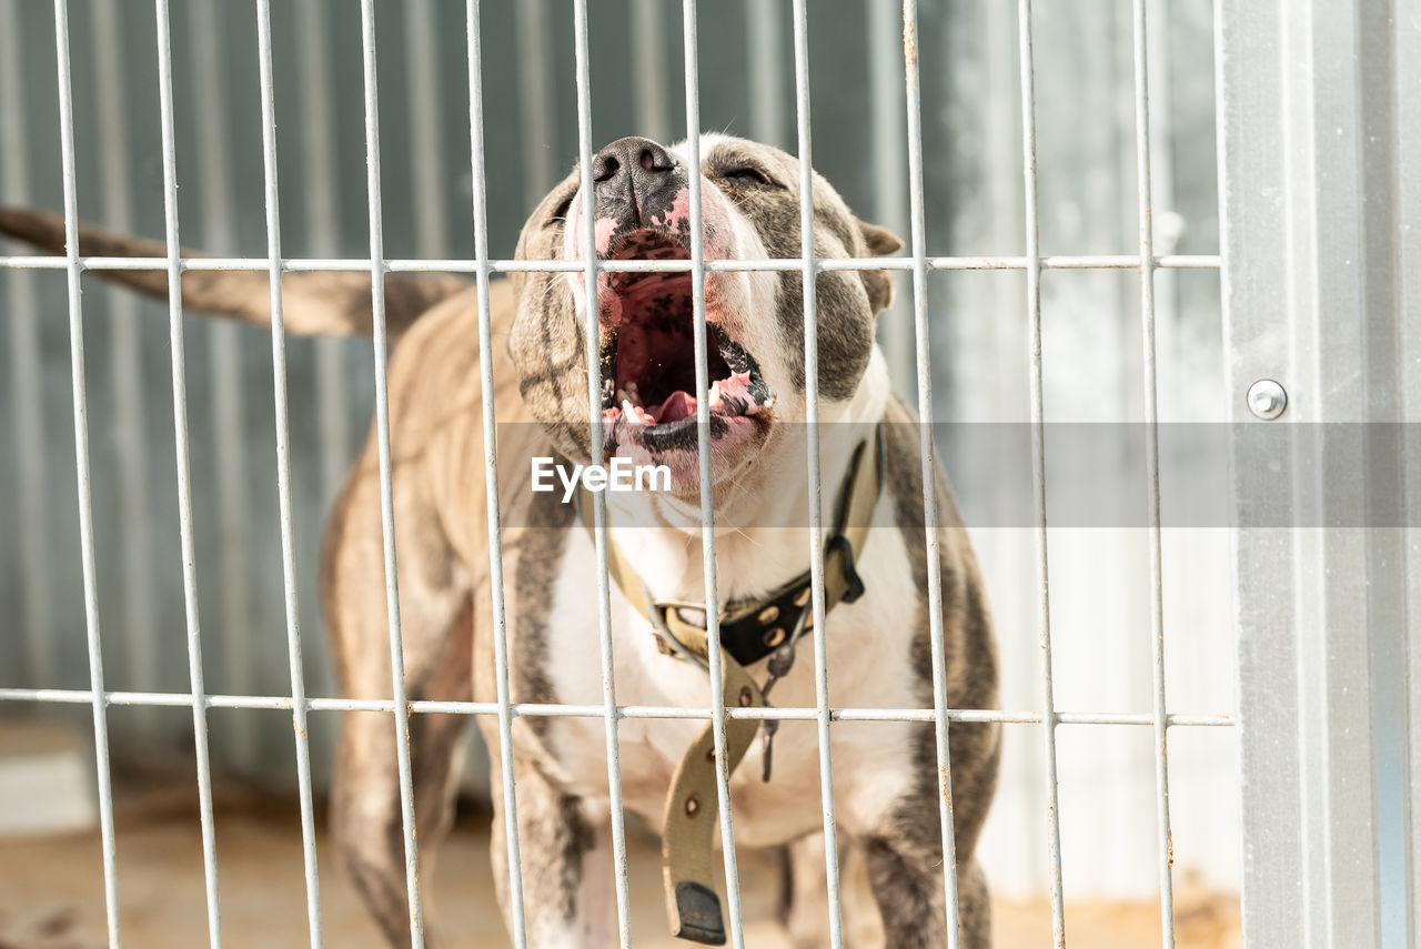
<instances>
[{"instance_id":1,"label":"white vertical bar over the dog's right cheek, eighth from left","mask_svg":"<svg viewBox=\"0 0 1421 949\"><path fill-rule=\"evenodd\" d=\"M804 432L809 462L809 564L814 617L814 703L818 730L818 784L824 808L824 875L828 886L828 940L844 945L838 892L838 827L834 766L828 736L828 645L824 629L824 497L818 455L818 310L814 273L814 161L809 114L809 11L794 0L794 112L800 162L800 266L804 283Z\"/></svg>"}]
</instances>

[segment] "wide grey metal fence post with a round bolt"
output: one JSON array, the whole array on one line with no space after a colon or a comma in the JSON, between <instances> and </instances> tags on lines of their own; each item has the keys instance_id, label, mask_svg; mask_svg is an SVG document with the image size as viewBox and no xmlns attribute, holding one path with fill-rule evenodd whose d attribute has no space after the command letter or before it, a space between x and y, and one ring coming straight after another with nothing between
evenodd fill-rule
<instances>
[{"instance_id":1,"label":"wide grey metal fence post with a round bolt","mask_svg":"<svg viewBox=\"0 0 1421 949\"><path fill-rule=\"evenodd\" d=\"M1401 158L1417 4L1221 0L1218 14L1245 945L1415 945L1415 531L1393 423L1421 382L1405 347L1421 328L1418 188ZM1259 379L1286 391L1275 421L1249 408ZM1290 438L1270 449L1260 425Z\"/></svg>"}]
</instances>

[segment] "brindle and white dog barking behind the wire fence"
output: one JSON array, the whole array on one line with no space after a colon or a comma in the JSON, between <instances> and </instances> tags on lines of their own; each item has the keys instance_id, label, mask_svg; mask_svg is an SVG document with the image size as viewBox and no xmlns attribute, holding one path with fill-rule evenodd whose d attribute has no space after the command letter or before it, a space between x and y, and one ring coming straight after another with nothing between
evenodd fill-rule
<instances>
[{"instance_id":1,"label":"brindle and white dog barking behind the wire fence","mask_svg":"<svg viewBox=\"0 0 1421 949\"><path fill-rule=\"evenodd\" d=\"M583 260L584 215L594 216L600 259L688 259L692 175L701 180L708 260L796 259L801 253L799 161L776 148L705 135L701 168L693 169L684 143L668 148L625 138L593 161L593 192L581 189L577 169L568 173L527 219L519 260ZM897 237L858 220L818 175L810 200L817 257L875 257L901 249ZM27 210L0 209L0 233L55 253L63 253L65 242L63 222ZM166 256L158 242L95 227L80 230L80 244L82 253L94 256ZM159 298L168 295L166 273L102 274ZM706 378L712 386L705 392L695 384L691 281L688 273L603 271L590 300L580 271L517 271L509 280L493 280L492 332L502 345L495 355L479 352L477 291L468 281L385 276L385 321L396 341L388 364L389 432L411 699L497 698L480 408L483 355L496 359L492 396L499 421L513 702L603 702L597 558L593 533L580 516L590 507L588 497L584 493L578 501L567 499L567 492L533 490L530 459L588 465L593 439L600 438L610 459L669 470L665 490L605 494L608 548L625 571L610 585L620 705L705 707L709 702L706 671L668 648L658 617L675 611L651 608L684 604L675 612L676 622L695 625L695 604L705 604L698 401L709 401L719 607L759 608L767 594L793 585L809 570L801 271L706 273ZM286 330L367 334L372 325L369 290L368 274L288 273L283 277ZM185 307L256 325L270 325L269 293L269 276L260 271L189 270L182 276ZM870 501L860 506L867 528L860 534L861 550L838 558L848 558L843 570L858 595L834 597L838 602L820 618L836 707L928 707L932 702L919 428L894 395L874 342L875 317L891 297L888 274L871 263L863 270L823 271L816 281L826 536L834 527L836 507L843 511L847 496L857 492L853 484L867 477L874 489L865 494ZM588 418L585 348L588 310L594 307L604 376L603 418L595 428ZM865 452L871 462L864 462ZM863 474L865 466L874 472ZM996 702L998 678L989 611L942 470L934 477L946 702L951 707L988 709ZM323 609L341 690L388 698L374 432L330 514L321 560ZM627 577L641 588L624 582ZM797 634L809 634L814 624L801 602L806 591L796 591L793 605L782 604L787 611L804 611ZM769 607L757 615L769 615ZM725 629L722 621L723 635ZM783 625L773 632L772 645L784 645ZM769 698L774 705L813 706L813 661L793 662L790 652L791 665L784 669L780 662L779 675L772 676L777 658L784 658L783 651L769 658L752 654L745 673L756 683L773 678ZM760 700L756 692L755 703ZM477 723L489 747L499 749L497 720L477 716ZM466 725L468 716L459 715L409 719L419 862L426 879L452 820ZM601 949L614 942L604 727L600 717L537 715L519 716L512 725L522 896L531 946ZM661 827L674 810L664 814L678 761L696 734L705 733L705 720L624 719L618 727L624 807ZM840 720L830 734L838 835L867 869L885 945L946 945L932 725ZM817 730L813 722L784 720L772 739L752 743L743 766L730 776L735 838L743 847L784 848L784 919L796 945L823 946L828 940ZM995 791L999 727L953 723L949 747L961 939L965 948L985 949L990 945L990 913L975 847ZM764 780L770 752L773 771ZM492 759L493 786L499 787L500 756ZM492 858L507 918L500 794L493 794L493 807ZM387 716L345 713L331 820L342 862L389 943L408 945L399 788ZM691 926L689 935L716 942L718 933L698 935ZM723 940L723 933L719 938Z\"/></svg>"}]
</instances>

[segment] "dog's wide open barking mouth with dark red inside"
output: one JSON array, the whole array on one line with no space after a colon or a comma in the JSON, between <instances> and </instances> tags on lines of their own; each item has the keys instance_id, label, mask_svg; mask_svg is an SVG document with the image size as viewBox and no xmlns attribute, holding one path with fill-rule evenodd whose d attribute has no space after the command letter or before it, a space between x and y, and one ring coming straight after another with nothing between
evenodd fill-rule
<instances>
[{"instance_id":1,"label":"dog's wide open barking mouth with dark red inside","mask_svg":"<svg viewBox=\"0 0 1421 949\"><path fill-rule=\"evenodd\" d=\"M674 237L628 234L614 260L688 260ZM607 274L598 294L603 332L603 430L607 450L639 446L649 453L696 449L696 409L710 413L720 439L773 406L755 358L716 322L708 274L705 391L696 385L693 304L689 273ZM762 419L763 421L763 419Z\"/></svg>"}]
</instances>

